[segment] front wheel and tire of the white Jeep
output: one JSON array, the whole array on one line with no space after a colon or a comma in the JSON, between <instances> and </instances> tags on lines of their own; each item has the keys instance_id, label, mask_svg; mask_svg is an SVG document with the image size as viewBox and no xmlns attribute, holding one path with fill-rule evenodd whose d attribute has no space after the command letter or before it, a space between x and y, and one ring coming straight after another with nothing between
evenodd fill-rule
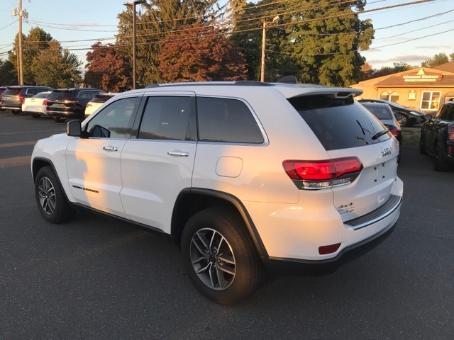
<instances>
[{"instance_id":1,"label":"front wheel and tire of the white Jeep","mask_svg":"<svg viewBox=\"0 0 454 340\"><path fill-rule=\"evenodd\" d=\"M50 166L38 171L35 178L35 198L41 215L51 223L67 222L75 211L67 201L65 192Z\"/></svg>"}]
</instances>

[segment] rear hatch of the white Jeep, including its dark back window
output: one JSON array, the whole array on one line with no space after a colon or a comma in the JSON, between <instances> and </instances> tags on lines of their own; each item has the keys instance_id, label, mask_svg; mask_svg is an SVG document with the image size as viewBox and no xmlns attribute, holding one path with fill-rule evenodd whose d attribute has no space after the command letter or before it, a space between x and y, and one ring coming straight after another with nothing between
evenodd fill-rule
<instances>
[{"instance_id":1,"label":"rear hatch of the white Jeep, including its dark back window","mask_svg":"<svg viewBox=\"0 0 454 340\"><path fill-rule=\"evenodd\" d=\"M380 120L356 103L351 93L331 90L331 93L305 94L288 100L331 159L354 168L348 180L341 176L328 184L309 183L314 187L307 189L331 190L333 205L344 222L374 211L380 213L380 207L397 204L399 197L392 195L392 189L397 179L399 145ZM353 164L356 159L360 166Z\"/></svg>"}]
</instances>

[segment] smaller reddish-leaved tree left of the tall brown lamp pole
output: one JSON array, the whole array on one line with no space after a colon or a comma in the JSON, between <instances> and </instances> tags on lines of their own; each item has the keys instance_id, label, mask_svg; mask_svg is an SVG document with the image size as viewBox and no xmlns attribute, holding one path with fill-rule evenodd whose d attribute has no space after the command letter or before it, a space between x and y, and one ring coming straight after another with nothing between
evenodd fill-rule
<instances>
[{"instance_id":1,"label":"smaller reddish-leaved tree left of the tall brown lamp pole","mask_svg":"<svg viewBox=\"0 0 454 340\"><path fill-rule=\"evenodd\" d=\"M84 83L110 92L123 91L128 85L127 74L131 74L131 67L126 65L116 46L96 42L92 48L92 52L87 52Z\"/></svg>"}]
</instances>

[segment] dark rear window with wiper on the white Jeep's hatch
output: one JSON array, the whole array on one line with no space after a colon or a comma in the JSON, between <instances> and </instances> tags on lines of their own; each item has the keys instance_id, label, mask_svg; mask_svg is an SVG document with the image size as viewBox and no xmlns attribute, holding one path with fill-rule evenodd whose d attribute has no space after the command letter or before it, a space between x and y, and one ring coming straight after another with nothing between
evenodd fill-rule
<instances>
[{"instance_id":1,"label":"dark rear window with wiper on the white Jeep's hatch","mask_svg":"<svg viewBox=\"0 0 454 340\"><path fill-rule=\"evenodd\" d=\"M386 128L351 97L302 96L289 102L326 150L361 147L392 137L389 132L377 137Z\"/></svg>"}]
</instances>

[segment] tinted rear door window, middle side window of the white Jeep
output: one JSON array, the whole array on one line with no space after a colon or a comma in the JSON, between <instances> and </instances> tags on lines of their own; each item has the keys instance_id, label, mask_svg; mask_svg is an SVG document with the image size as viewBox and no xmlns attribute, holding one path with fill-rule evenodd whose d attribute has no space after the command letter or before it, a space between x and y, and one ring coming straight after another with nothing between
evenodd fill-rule
<instances>
[{"instance_id":1,"label":"tinted rear door window, middle side window of the white Jeep","mask_svg":"<svg viewBox=\"0 0 454 340\"><path fill-rule=\"evenodd\" d=\"M148 97L138 138L190 140L191 97Z\"/></svg>"}]
</instances>

